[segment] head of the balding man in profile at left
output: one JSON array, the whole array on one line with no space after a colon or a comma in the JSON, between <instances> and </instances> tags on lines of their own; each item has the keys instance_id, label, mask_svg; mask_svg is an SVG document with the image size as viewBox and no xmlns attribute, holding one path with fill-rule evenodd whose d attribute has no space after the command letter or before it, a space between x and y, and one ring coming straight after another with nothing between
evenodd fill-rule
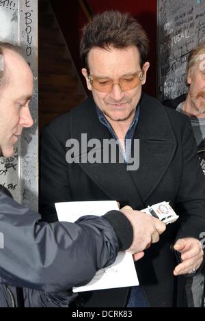
<instances>
[{"instance_id":1,"label":"head of the balding man in profile at left","mask_svg":"<svg viewBox=\"0 0 205 321\"><path fill-rule=\"evenodd\" d=\"M29 111L33 74L18 51L10 47L2 49L1 45L0 48L4 67L0 88L0 155L10 157L23 128L33 125Z\"/></svg>"}]
</instances>

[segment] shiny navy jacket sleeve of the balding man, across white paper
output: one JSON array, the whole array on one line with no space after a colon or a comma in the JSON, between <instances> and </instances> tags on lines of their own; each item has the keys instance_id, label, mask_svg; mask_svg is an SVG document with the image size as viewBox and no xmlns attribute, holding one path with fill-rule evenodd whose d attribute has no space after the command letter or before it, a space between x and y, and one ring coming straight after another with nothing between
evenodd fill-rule
<instances>
[{"instance_id":1,"label":"shiny navy jacket sleeve of the balding man, across white paper","mask_svg":"<svg viewBox=\"0 0 205 321\"><path fill-rule=\"evenodd\" d=\"M124 216L120 211L119 216ZM107 218L115 216L110 212ZM41 222L40 215L0 193L0 282L58 292L86 284L115 261L120 247L109 221ZM127 220L128 221L128 220ZM129 222L129 221L128 221ZM126 224L130 224L126 222Z\"/></svg>"}]
</instances>

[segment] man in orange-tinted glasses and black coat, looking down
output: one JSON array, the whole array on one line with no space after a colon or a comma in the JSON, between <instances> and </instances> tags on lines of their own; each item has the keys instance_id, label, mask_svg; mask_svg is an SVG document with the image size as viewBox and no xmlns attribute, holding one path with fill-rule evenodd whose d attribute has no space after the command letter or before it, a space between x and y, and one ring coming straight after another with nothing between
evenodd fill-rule
<instances>
[{"instance_id":1,"label":"man in orange-tinted glasses and black coat, looking down","mask_svg":"<svg viewBox=\"0 0 205 321\"><path fill-rule=\"evenodd\" d=\"M205 231L204 175L189 118L142 93L148 38L129 14L94 16L83 28L80 52L92 97L42 131L43 219L56 219L56 201L94 200L117 200L134 209L171 201L180 218L136 262L139 287L84 293L75 305L186 306L182 274L202 266ZM116 157L113 151L119 151ZM128 165L136 159L133 170Z\"/></svg>"}]
</instances>

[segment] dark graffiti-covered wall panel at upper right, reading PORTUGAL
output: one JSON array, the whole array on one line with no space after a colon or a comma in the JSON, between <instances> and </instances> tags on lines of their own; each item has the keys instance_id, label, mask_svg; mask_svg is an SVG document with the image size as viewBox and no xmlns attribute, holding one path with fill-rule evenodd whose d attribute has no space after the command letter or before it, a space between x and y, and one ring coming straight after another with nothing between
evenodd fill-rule
<instances>
[{"instance_id":1,"label":"dark graffiti-covered wall panel at upper right, reading PORTUGAL","mask_svg":"<svg viewBox=\"0 0 205 321\"><path fill-rule=\"evenodd\" d=\"M205 43L205 0L158 0L158 88L160 100L187 92L187 58Z\"/></svg>"}]
</instances>

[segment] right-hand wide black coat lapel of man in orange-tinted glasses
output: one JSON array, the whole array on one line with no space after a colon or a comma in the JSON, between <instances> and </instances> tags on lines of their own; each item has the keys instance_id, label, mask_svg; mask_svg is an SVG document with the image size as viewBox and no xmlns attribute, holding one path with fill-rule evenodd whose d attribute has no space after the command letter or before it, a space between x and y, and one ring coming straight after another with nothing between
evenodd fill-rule
<instances>
[{"instance_id":1,"label":"right-hand wide black coat lapel of man in orange-tinted glasses","mask_svg":"<svg viewBox=\"0 0 205 321\"><path fill-rule=\"evenodd\" d=\"M139 139L139 169L130 173L146 202L172 162L177 144L167 113L159 101L143 94L140 108L134 136Z\"/></svg>"}]
</instances>

